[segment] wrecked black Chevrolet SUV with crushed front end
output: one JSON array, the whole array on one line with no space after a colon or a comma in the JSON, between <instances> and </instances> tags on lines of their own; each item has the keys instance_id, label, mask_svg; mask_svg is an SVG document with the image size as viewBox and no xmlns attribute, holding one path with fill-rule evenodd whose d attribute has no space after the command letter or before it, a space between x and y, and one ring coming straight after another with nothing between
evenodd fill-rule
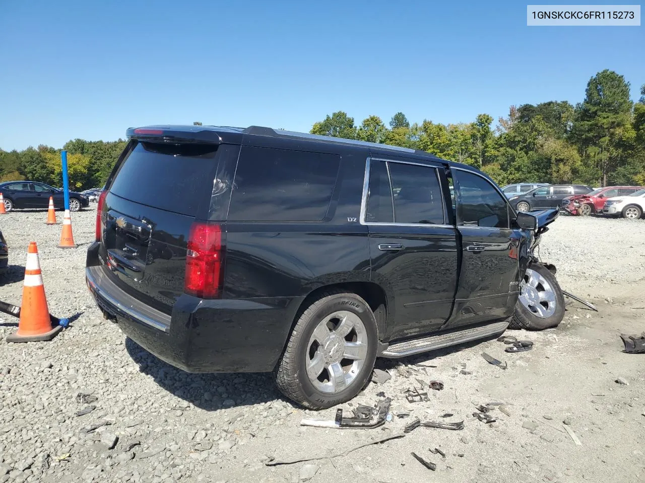
<instances>
[{"instance_id":1,"label":"wrecked black Chevrolet SUV with crushed front end","mask_svg":"<svg viewBox=\"0 0 645 483\"><path fill-rule=\"evenodd\" d=\"M327 408L360 392L377 356L508 326L536 218L480 171L256 126L127 135L86 281L104 316L164 361L273 371L286 396ZM526 294L534 314L562 318L555 298Z\"/></svg>"}]
</instances>

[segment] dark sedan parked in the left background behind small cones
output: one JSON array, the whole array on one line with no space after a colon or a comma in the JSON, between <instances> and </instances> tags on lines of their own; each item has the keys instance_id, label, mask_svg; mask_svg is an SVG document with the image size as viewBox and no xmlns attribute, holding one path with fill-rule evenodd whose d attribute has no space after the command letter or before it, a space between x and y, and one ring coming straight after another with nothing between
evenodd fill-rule
<instances>
[{"instance_id":1,"label":"dark sedan parked in the left background behind small cones","mask_svg":"<svg viewBox=\"0 0 645 483\"><path fill-rule=\"evenodd\" d=\"M5 198L5 210L14 208L47 208L49 197L54 198L56 209L64 208L63 190L35 181L7 181L0 183L0 193ZM70 211L79 211L90 205L87 196L70 191Z\"/></svg>"}]
</instances>

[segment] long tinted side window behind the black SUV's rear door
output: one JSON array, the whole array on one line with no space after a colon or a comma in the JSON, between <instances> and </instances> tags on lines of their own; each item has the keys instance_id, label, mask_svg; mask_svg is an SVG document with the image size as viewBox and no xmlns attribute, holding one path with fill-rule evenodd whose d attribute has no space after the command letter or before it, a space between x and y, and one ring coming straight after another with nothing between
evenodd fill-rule
<instances>
[{"instance_id":1,"label":"long tinted side window behind the black SUV's rear door","mask_svg":"<svg viewBox=\"0 0 645 483\"><path fill-rule=\"evenodd\" d=\"M332 200L341 157L243 147L228 220L319 222Z\"/></svg>"}]
</instances>

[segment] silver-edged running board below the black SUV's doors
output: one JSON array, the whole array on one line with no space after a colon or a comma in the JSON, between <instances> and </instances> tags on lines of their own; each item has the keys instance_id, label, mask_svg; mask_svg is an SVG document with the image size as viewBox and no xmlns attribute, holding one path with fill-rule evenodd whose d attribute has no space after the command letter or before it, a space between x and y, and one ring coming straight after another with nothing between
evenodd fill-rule
<instances>
[{"instance_id":1,"label":"silver-edged running board below the black SUV's doors","mask_svg":"<svg viewBox=\"0 0 645 483\"><path fill-rule=\"evenodd\" d=\"M506 330L506 327L508 327L508 322L502 321L483 325L481 327L466 328L464 330L456 330L446 334L423 337L422 339L398 342L390 344L379 354L379 357L397 359L398 357L406 357L408 355L442 349L444 347L462 344L464 342L476 341L477 339L483 339L484 337L501 334Z\"/></svg>"}]
</instances>

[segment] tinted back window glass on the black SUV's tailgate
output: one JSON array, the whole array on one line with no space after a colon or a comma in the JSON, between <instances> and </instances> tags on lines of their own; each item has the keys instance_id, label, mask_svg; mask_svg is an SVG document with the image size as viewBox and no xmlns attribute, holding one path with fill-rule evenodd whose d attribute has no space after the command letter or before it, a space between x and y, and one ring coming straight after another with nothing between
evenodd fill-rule
<instances>
[{"instance_id":1,"label":"tinted back window glass on the black SUV's tailgate","mask_svg":"<svg viewBox=\"0 0 645 483\"><path fill-rule=\"evenodd\" d=\"M195 216L201 189L215 171L212 144L139 142L115 175L110 192L143 205ZM206 193L208 202L208 193Z\"/></svg>"}]
</instances>

